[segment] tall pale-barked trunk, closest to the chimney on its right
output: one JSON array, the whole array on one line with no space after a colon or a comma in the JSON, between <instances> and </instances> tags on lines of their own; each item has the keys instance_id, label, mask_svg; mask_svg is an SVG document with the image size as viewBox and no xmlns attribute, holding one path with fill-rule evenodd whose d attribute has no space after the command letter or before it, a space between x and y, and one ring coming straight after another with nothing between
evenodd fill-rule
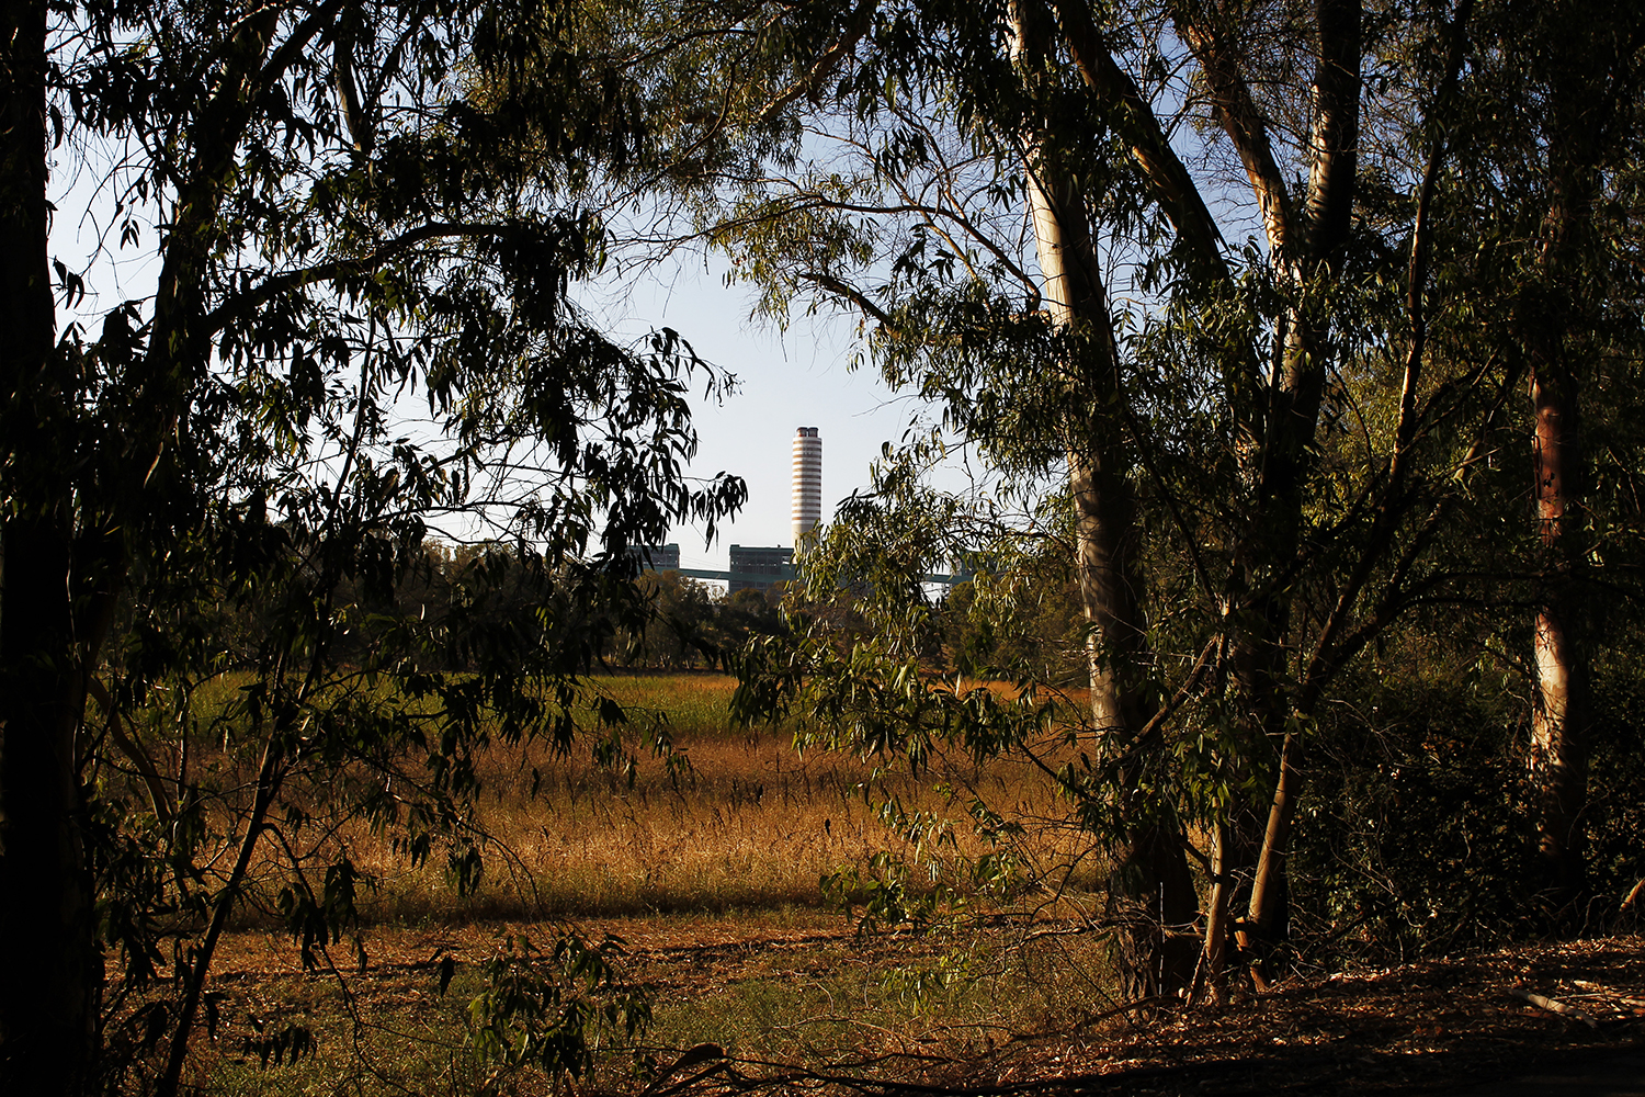
<instances>
[{"instance_id":1,"label":"tall pale-barked trunk, closest to the chimney on its right","mask_svg":"<svg viewBox=\"0 0 1645 1097\"><path fill-rule=\"evenodd\" d=\"M1013 5L1015 56L1035 64L1048 49L1046 10ZM1122 400L1119 347L1082 196L1043 156L1040 135L1025 140L1028 204L1045 301L1051 321L1071 336L1066 363L1069 411L1064 441L1074 507L1074 562L1091 627L1091 714L1104 745L1120 750L1122 849L1114 850L1110 898L1125 926L1125 967L1138 993L1184 988L1194 969L1193 933L1199 901L1188 870L1181 827L1168 803L1138 793L1142 770L1158 757L1163 735L1150 727L1156 711L1147 617L1142 605L1137 500L1127 477L1124 434L1104 416Z\"/></svg>"}]
</instances>

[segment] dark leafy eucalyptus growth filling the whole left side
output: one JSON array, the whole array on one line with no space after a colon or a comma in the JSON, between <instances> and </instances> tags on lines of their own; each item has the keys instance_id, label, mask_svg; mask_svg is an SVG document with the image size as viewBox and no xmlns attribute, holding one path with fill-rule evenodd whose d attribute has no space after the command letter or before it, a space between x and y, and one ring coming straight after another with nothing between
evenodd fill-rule
<instances>
[{"instance_id":1,"label":"dark leafy eucalyptus growth filling the whole left side","mask_svg":"<svg viewBox=\"0 0 1645 1097\"><path fill-rule=\"evenodd\" d=\"M349 814L474 885L477 752L592 722L600 630L643 610L627 544L742 488L683 475L689 347L615 345L568 298L602 229L561 196L655 132L563 12L5 20L0 933L28 947L0 1087L169 1094L232 914L266 905L313 962L370 883L319 860ZM150 296L87 301L61 258L72 153L117 164L104 245L146 250ZM54 289L94 324L59 334ZM383 612L431 523L490 548L438 612ZM212 681L232 702L202 715ZM572 1028L548 1066L579 1064Z\"/></svg>"}]
</instances>

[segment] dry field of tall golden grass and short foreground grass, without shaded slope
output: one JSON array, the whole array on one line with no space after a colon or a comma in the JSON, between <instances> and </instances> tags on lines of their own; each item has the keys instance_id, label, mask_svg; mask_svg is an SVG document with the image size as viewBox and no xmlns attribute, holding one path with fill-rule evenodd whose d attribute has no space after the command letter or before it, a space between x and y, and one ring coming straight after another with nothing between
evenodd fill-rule
<instances>
[{"instance_id":1,"label":"dry field of tall golden grass and short foreground grass, without shaded slope","mask_svg":"<svg viewBox=\"0 0 1645 1097\"><path fill-rule=\"evenodd\" d=\"M306 850L316 863L345 850L378 880L364 893L359 939L331 949L336 967L304 972L291 939L248 916L214 977L237 1018L230 1031L278 1020L314 1031L317 1049L276 1067L239 1035L202 1044L204 1090L475 1092L485 1074L464 1048L464 1007L480 990L477 967L505 934L541 942L566 926L627 942L628 970L656 1002L642 1051L663 1062L709 1041L753 1061L916 1062L1043 1030L1071 1002L1112 1005L1104 946L1081 933L1091 901L1081 885L1097 867L1071 827L1054 826L1066 806L1038 770L938 755L916 778L897 760L801 753L788 730L734 727L735 683L714 674L619 676L600 687L640 720L666 717L686 765L642 753L630 780L586 745L568 755L495 748L479 765L487 875L467 898L439 857L411 867L360 822L322 829ZM860 908L824 905L824 875L872 875L880 852L918 867L911 890L933 873L962 878L964 860L984 852L966 811L977 798L1035 821L1013 855L1073 863L1076 886L961 888L974 913L1012 906L1028 918L920 934L862 936ZM888 801L926 827L897 826L882 809ZM275 862L263 875L278 883ZM436 992L438 957L456 960L446 995ZM605 1084L622 1087L623 1062L609 1064ZM553 1085L520 1074L502 1089Z\"/></svg>"}]
</instances>

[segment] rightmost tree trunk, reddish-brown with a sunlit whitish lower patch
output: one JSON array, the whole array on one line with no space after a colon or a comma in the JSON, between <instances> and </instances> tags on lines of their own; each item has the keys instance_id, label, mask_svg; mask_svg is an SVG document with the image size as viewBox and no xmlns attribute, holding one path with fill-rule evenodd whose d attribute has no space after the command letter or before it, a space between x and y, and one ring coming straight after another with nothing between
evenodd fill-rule
<instances>
[{"instance_id":1,"label":"rightmost tree trunk, reddish-brown with a sunlit whitish lower patch","mask_svg":"<svg viewBox=\"0 0 1645 1097\"><path fill-rule=\"evenodd\" d=\"M1594 235L1596 202L1607 176L1633 168L1638 127L1640 41L1637 5L1573 3L1541 15L1538 54L1546 81L1536 151L1546 156L1546 204L1535 265L1515 301L1515 336L1525 350L1531 406L1535 505L1535 617L1531 655L1530 780L1538 859L1548 910L1559 928L1581 924L1587 893L1587 766L1597 699L1591 686L1592 640L1586 587L1591 526L1582 446L1587 355L1602 342L1594 303L1614 245ZM1607 252L1610 255L1607 255Z\"/></svg>"}]
</instances>

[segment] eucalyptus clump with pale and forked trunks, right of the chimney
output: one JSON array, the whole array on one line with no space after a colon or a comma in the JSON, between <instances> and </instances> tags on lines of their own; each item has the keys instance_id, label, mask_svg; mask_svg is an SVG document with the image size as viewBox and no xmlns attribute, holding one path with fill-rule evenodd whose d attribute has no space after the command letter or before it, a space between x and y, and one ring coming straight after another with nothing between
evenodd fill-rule
<instances>
[{"instance_id":1,"label":"eucalyptus clump with pale and forked trunks, right of the chimney","mask_svg":"<svg viewBox=\"0 0 1645 1097\"><path fill-rule=\"evenodd\" d=\"M1283 936L1314 714L1367 643L1466 571L1436 538L1505 378L1461 342L1434 355L1428 327L1446 306L1431 219L1469 18L882 3L801 115L811 163L745 179L719 227L770 306L859 311L888 380L936 400L1007 479L1069 477L1101 763L1063 780L1092 826L1128 831L1117 863L1155 824L1175 847L1130 883L1168 911L1138 957L1153 979L1171 967L1163 931L1194 921L1194 896L1186 913L1160 901L1184 857L1211 878L1207 970L1240 882L1240 942ZM1255 237L1230 245L1242 227ZM1120 291L1115 270L1133 271ZM897 502L948 513L903 475L847 516L883 538ZM941 717L931 704L918 719L967 719L959 699Z\"/></svg>"}]
</instances>

